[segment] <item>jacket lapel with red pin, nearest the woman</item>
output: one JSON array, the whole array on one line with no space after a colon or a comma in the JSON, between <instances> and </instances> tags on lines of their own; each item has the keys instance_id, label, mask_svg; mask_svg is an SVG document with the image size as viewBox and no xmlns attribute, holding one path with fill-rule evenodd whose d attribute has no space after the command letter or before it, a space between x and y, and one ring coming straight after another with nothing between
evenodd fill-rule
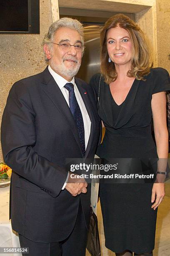
<instances>
[{"instance_id":1,"label":"jacket lapel with red pin, nearest the woman","mask_svg":"<svg viewBox=\"0 0 170 256\"><path fill-rule=\"evenodd\" d=\"M92 145L92 139L93 139L93 134L94 134L94 115L91 111L92 108L90 108L90 99L89 99L89 96L86 92L86 90L83 88L83 84L81 83L80 80L78 80L77 78L75 78L75 84L77 85L77 88L80 92L80 95L82 97L82 100L85 104L85 108L87 110L87 113L89 115L89 118L90 118L90 121L91 121L91 128L90 128L90 137L89 137L89 140L88 140L88 143L87 143L87 148L86 148L86 151L85 151L85 156L84 158L87 158L89 152L90 152L90 149L91 149L91 145Z\"/></svg>"}]
</instances>

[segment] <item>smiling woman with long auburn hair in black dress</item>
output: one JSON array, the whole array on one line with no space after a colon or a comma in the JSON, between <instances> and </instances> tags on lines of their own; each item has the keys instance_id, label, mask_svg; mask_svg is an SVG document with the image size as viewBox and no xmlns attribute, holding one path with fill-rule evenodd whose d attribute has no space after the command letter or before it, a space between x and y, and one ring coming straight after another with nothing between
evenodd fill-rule
<instances>
[{"instance_id":1,"label":"smiling woman with long auburn hair in black dress","mask_svg":"<svg viewBox=\"0 0 170 256\"><path fill-rule=\"evenodd\" d=\"M151 256L157 209L165 195L169 74L163 68L152 68L143 32L133 20L117 14L102 29L101 74L94 75L90 84L99 99L98 112L106 130L97 155L107 163L112 158L150 160L145 167L158 161L152 182L101 182L105 245L116 255Z\"/></svg>"}]
</instances>

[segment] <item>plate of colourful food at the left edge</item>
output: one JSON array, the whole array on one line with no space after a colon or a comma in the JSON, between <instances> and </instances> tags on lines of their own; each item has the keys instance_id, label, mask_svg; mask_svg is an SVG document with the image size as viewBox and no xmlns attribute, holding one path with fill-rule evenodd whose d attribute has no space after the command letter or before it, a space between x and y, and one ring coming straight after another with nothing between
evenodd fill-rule
<instances>
[{"instance_id":1,"label":"plate of colourful food at the left edge","mask_svg":"<svg viewBox=\"0 0 170 256\"><path fill-rule=\"evenodd\" d=\"M0 163L0 187L7 187L10 185L12 169L4 163Z\"/></svg>"}]
</instances>

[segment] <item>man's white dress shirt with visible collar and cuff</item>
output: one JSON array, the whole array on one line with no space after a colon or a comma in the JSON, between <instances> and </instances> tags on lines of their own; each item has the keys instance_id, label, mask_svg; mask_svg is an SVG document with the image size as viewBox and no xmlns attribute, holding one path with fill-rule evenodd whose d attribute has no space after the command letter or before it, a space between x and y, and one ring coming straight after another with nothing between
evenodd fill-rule
<instances>
[{"instance_id":1,"label":"man's white dress shirt with visible collar and cuff","mask_svg":"<svg viewBox=\"0 0 170 256\"><path fill-rule=\"evenodd\" d=\"M85 104L82 100L82 97L80 95L80 92L75 84L75 78L73 77L72 80L70 82L68 82L65 78L61 77L59 74L57 74L54 70L52 70L52 68L50 67L50 65L48 65L48 70L50 72L50 74L52 75L52 77L54 78L55 82L57 83L58 87L60 88L63 96L65 97L65 100L69 106L69 92L67 89L65 89L65 84L66 83L72 83L74 85L74 91L75 91L75 97L77 99L78 105L80 107L81 113L82 113L82 119L83 119L83 123L84 123L84 129L85 129L85 149L87 148L87 143L89 140L89 136L90 136L90 128L91 128L91 121L89 118L89 115L87 113L87 110L85 108ZM67 179L65 180L65 184L62 187L62 190L65 188L66 184L67 184L67 180L68 180L69 175L67 175Z\"/></svg>"}]
</instances>

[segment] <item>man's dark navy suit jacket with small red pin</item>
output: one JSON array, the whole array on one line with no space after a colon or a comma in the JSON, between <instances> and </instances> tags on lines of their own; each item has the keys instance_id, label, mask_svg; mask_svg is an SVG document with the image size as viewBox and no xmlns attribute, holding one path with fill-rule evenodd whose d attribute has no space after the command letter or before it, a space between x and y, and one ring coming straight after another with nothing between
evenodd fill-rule
<instances>
[{"instance_id":1,"label":"man's dark navy suit jacket with small red pin","mask_svg":"<svg viewBox=\"0 0 170 256\"><path fill-rule=\"evenodd\" d=\"M100 133L97 104L90 86L81 79L75 83L91 120L85 158L93 158ZM65 159L82 158L82 152L70 108L47 68L11 88L1 142L5 163L13 169L14 230L32 241L62 241L73 229L80 199L88 226L90 184L77 197L61 190L67 177Z\"/></svg>"}]
</instances>

